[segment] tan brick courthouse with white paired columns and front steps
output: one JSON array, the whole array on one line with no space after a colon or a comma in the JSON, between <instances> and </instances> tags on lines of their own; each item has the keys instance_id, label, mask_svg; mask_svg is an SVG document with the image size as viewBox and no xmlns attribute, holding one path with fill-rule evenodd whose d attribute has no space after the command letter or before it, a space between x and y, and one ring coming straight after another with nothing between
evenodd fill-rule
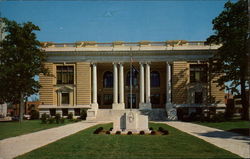
<instances>
[{"instance_id":1,"label":"tan brick courthouse with white paired columns and front steps","mask_svg":"<svg viewBox=\"0 0 250 159\"><path fill-rule=\"evenodd\" d=\"M179 107L223 108L219 75L208 69L219 47L183 40L44 42L52 76L40 75L40 114L78 116L87 109L88 119L110 120L113 111L132 106L149 110L151 119L175 119Z\"/></svg>"}]
</instances>

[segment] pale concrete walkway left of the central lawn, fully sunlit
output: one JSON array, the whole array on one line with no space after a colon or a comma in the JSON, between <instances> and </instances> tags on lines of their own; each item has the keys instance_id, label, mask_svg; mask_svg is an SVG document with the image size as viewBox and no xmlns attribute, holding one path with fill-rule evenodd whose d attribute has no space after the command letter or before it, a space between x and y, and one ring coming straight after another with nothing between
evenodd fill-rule
<instances>
[{"instance_id":1,"label":"pale concrete walkway left of the central lawn, fully sunlit","mask_svg":"<svg viewBox=\"0 0 250 159\"><path fill-rule=\"evenodd\" d=\"M100 122L82 121L0 140L0 159L17 157L96 124L100 124Z\"/></svg>"}]
</instances>

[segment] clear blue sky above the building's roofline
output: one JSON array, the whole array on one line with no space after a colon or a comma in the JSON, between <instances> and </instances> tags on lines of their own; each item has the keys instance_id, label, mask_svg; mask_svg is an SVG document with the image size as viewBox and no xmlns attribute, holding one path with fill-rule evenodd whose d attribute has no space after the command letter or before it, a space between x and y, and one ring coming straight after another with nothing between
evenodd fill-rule
<instances>
[{"instance_id":1,"label":"clear blue sky above the building's roofline","mask_svg":"<svg viewBox=\"0 0 250 159\"><path fill-rule=\"evenodd\" d=\"M1 1L2 17L32 21L40 41L206 40L225 0Z\"/></svg>"}]
</instances>

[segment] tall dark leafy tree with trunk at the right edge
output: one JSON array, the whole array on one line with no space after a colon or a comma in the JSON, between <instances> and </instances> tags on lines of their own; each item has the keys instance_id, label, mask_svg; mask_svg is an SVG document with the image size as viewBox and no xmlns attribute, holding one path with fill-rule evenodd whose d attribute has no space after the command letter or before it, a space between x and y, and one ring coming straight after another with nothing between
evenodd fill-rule
<instances>
[{"instance_id":1,"label":"tall dark leafy tree with trunk at the right edge","mask_svg":"<svg viewBox=\"0 0 250 159\"><path fill-rule=\"evenodd\" d=\"M214 55L212 68L222 73L218 84L231 82L227 89L238 93L240 86L243 106L243 119L249 119L249 106L246 97L247 49L248 49L248 4L247 0L225 3L224 10L213 19L214 35L207 39L212 44L222 44Z\"/></svg>"}]
</instances>

